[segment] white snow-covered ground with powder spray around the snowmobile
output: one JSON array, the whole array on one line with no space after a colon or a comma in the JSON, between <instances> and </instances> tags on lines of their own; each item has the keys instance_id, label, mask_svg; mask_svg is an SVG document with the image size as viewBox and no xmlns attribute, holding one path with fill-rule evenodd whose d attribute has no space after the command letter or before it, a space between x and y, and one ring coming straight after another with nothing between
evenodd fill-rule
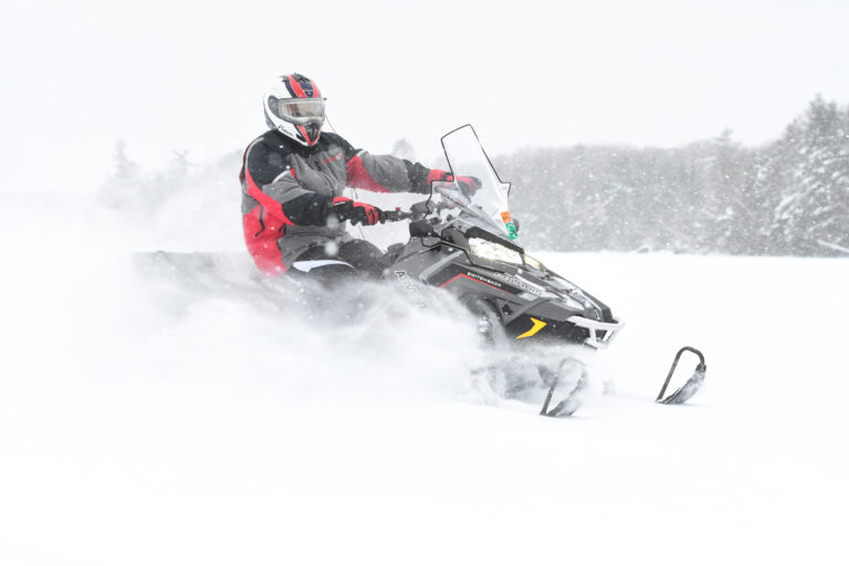
<instances>
[{"instance_id":1,"label":"white snow-covered ground with powder spray around the snowmobile","mask_svg":"<svg viewBox=\"0 0 849 566\"><path fill-rule=\"evenodd\" d=\"M462 325L189 297L35 201L0 211L2 565L849 560L849 260L538 253L628 322L614 394L545 419L481 402ZM704 389L652 403L688 344Z\"/></svg>"}]
</instances>

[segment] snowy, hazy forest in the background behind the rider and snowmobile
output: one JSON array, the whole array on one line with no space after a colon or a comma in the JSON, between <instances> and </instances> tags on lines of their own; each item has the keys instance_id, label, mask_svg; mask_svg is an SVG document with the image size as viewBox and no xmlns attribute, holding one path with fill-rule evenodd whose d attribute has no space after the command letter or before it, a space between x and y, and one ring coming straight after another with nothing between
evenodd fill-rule
<instances>
[{"instance_id":1,"label":"snowy, hazy forest in the background behind the rider and snowmobile","mask_svg":"<svg viewBox=\"0 0 849 566\"><path fill-rule=\"evenodd\" d=\"M396 150L412 154L405 140ZM493 161L531 249L849 255L849 106L821 96L761 147L725 130L675 148L527 148ZM114 163L101 200L134 221L200 221L216 202L238 211L241 150L206 165L177 153L149 172L119 142Z\"/></svg>"}]
</instances>

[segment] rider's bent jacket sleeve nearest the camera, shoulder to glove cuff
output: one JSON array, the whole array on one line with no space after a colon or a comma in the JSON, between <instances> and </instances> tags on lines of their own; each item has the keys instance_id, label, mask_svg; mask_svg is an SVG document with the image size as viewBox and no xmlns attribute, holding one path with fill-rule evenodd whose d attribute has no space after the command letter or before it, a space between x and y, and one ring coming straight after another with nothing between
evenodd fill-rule
<instances>
[{"instance_id":1,"label":"rider's bent jacket sleeve nearest the camera, shoulder to glove cuff","mask_svg":"<svg viewBox=\"0 0 849 566\"><path fill-rule=\"evenodd\" d=\"M332 199L301 187L286 161L285 155L254 142L244 154L242 190L284 224L324 226Z\"/></svg>"}]
</instances>

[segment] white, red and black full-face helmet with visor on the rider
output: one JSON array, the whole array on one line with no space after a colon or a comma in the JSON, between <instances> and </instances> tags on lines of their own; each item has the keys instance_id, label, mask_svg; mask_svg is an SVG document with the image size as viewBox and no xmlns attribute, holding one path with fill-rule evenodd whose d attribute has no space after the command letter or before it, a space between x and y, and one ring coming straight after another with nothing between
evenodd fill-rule
<instances>
[{"instance_id":1,"label":"white, red and black full-face helmet with visor on the rider","mask_svg":"<svg viewBox=\"0 0 849 566\"><path fill-rule=\"evenodd\" d=\"M265 123L301 145L314 146L324 125L324 101L304 75L279 76L263 96Z\"/></svg>"}]
</instances>

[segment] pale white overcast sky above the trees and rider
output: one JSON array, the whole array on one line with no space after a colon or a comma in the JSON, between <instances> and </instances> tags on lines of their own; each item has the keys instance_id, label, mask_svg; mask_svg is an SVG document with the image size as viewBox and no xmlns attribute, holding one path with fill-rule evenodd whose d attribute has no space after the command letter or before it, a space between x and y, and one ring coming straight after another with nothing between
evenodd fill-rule
<instances>
[{"instance_id":1,"label":"pale white overcast sky above the trees and rider","mask_svg":"<svg viewBox=\"0 0 849 566\"><path fill-rule=\"evenodd\" d=\"M526 145L774 139L816 93L849 103L849 2L6 0L4 189L96 188L113 146L202 161L264 130L266 83L297 71L355 146L427 161L472 123Z\"/></svg>"}]
</instances>

